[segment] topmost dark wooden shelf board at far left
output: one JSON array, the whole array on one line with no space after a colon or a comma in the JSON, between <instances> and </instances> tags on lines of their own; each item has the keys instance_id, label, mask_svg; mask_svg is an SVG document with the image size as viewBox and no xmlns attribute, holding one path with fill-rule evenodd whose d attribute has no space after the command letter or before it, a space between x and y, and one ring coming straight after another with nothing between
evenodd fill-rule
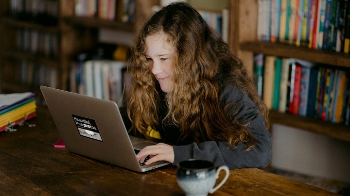
<instances>
[{"instance_id":1,"label":"topmost dark wooden shelf board at far left","mask_svg":"<svg viewBox=\"0 0 350 196\"><path fill-rule=\"evenodd\" d=\"M43 31L48 33L58 33L60 31L57 25L46 26L38 23L17 20L12 17L3 17L1 18L0 22L1 22L1 25L6 25L14 28L35 29L37 31Z\"/></svg>"}]
</instances>

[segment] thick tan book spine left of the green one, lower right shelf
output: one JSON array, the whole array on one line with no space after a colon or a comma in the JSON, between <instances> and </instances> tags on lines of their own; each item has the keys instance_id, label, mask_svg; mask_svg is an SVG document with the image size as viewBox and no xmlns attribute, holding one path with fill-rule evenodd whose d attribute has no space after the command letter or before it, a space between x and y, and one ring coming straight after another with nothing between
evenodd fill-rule
<instances>
[{"instance_id":1,"label":"thick tan book spine left of the green one, lower right shelf","mask_svg":"<svg viewBox=\"0 0 350 196\"><path fill-rule=\"evenodd\" d=\"M266 56L264 63L263 101L265 105L272 109L275 83L275 56Z\"/></svg>"}]
</instances>

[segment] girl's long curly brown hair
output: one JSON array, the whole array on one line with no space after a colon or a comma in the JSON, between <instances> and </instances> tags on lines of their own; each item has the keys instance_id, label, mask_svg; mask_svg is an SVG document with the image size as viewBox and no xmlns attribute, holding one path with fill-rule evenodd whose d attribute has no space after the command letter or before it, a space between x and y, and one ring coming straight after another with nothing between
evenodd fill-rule
<instances>
[{"instance_id":1,"label":"girl's long curly brown hair","mask_svg":"<svg viewBox=\"0 0 350 196\"><path fill-rule=\"evenodd\" d=\"M247 150L254 147L256 138L247 129L249 122L239 123L235 112L231 112L236 106L223 105L218 95L225 83L236 85L258 106L266 128L267 107L242 61L200 14L184 2L172 3L153 14L134 37L128 67L132 79L126 93L127 113L132 121L130 131L151 139L146 134L148 126L159 124L157 80L146 60L145 47L146 37L157 33L165 33L176 51L173 88L165 97L168 113L160 120L178 126L182 138L191 136L196 143L214 140L227 141L231 147L245 143Z\"/></svg>"}]
</instances>

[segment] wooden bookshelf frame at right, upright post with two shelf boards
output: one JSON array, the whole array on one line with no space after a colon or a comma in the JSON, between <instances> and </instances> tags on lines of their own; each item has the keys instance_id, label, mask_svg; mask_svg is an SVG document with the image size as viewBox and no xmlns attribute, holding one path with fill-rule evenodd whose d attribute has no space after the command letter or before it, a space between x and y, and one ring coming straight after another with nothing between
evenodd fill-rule
<instances>
[{"instance_id":1,"label":"wooden bookshelf frame at right, upright post with two shelf boards","mask_svg":"<svg viewBox=\"0 0 350 196\"><path fill-rule=\"evenodd\" d=\"M350 67L350 55L346 53L257 41L258 0L232 0L230 3L230 9L236 10L236 13L231 15L232 21L234 21L231 24L233 26L231 36L235 37L235 40L231 42L231 47L244 61L251 75L253 75L254 52L297 58L337 67ZM232 29L234 30L232 31ZM272 123L312 131L350 142L350 128L343 124L324 122L311 117L280 113L274 110L270 111L270 120Z\"/></svg>"}]
</instances>

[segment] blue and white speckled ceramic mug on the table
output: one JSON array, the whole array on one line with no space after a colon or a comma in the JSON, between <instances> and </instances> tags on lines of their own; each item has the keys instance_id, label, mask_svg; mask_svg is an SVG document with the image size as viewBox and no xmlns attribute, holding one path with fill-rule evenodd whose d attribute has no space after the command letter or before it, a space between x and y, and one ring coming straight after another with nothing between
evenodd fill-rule
<instances>
[{"instance_id":1,"label":"blue and white speckled ceramic mug on the table","mask_svg":"<svg viewBox=\"0 0 350 196\"><path fill-rule=\"evenodd\" d=\"M216 186L221 170L226 171L225 178ZM207 196L218 190L227 180L229 170L226 165L215 169L214 163L207 160L191 159L178 163L176 180L186 196ZM214 188L213 188L214 187Z\"/></svg>"}]
</instances>

